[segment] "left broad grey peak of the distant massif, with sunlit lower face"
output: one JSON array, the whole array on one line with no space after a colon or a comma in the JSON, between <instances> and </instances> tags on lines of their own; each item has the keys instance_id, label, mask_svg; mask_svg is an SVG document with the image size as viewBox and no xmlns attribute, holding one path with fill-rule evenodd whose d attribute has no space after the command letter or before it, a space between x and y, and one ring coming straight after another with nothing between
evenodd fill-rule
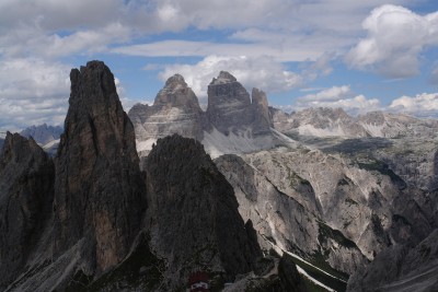
<instances>
[{"instance_id":1,"label":"left broad grey peak of the distant massif, with sunlit lower face","mask_svg":"<svg viewBox=\"0 0 438 292\"><path fill-rule=\"evenodd\" d=\"M135 105L129 118L135 125L139 151L143 150L141 142L172 133L203 140L205 115L195 93L180 74L168 79L152 106Z\"/></svg>"}]
</instances>

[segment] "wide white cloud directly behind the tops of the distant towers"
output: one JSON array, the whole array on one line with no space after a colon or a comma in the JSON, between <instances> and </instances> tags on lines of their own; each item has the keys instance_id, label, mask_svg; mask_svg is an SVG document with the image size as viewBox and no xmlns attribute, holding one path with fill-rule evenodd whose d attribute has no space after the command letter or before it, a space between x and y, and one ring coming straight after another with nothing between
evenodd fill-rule
<instances>
[{"instance_id":1,"label":"wide white cloud directly behind the tops of the distant towers","mask_svg":"<svg viewBox=\"0 0 438 292\"><path fill-rule=\"evenodd\" d=\"M160 79L164 81L180 73L198 97L206 97L207 85L220 71L229 71L247 90L258 87L266 92L280 92L302 84L300 75L269 57L208 56L195 65L170 65L160 73Z\"/></svg>"}]
</instances>

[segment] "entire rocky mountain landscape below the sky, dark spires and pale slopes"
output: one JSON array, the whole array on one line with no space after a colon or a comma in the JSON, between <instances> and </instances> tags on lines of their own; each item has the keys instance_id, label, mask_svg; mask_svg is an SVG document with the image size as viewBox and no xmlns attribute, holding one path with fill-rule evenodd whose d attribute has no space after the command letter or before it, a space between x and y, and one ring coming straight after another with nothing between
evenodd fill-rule
<instances>
[{"instance_id":1,"label":"entire rocky mountain landscape below the sky, dark spires and pale slopes","mask_svg":"<svg viewBox=\"0 0 438 292\"><path fill-rule=\"evenodd\" d=\"M438 120L287 114L226 71L206 110L175 74L126 114L103 62L70 81L64 132L3 141L1 291L438 291Z\"/></svg>"}]
</instances>

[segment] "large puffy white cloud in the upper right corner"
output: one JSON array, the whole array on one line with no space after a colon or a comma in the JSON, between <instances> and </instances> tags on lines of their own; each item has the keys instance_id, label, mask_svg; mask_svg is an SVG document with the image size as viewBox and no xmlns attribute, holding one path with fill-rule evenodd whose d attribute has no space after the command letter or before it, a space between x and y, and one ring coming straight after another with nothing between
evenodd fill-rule
<instances>
[{"instance_id":1,"label":"large puffy white cloud in the upper right corner","mask_svg":"<svg viewBox=\"0 0 438 292\"><path fill-rule=\"evenodd\" d=\"M382 5L372 10L362 27L368 35L350 49L346 62L391 78L417 74L419 54L438 45L438 12L423 16L403 7Z\"/></svg>"}]
</instances>

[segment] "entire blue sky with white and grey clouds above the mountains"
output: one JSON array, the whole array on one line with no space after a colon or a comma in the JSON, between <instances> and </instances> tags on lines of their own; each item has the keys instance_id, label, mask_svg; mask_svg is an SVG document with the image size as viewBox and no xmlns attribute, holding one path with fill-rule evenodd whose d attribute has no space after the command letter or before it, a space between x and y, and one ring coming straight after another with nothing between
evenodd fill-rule
<instances>
[{"instance_id":1,"label":"entire blue sky with white and grey clouds above the mountains","mask_svg":"<svg viewBox=\"0 0 438 292\"><path fill-rule=\"evenodd\" d=\"M104 61L127 112L221 70L286 112L438 117L435 0L0 0L0 135L62 125L69 72Z\"/></svg>"}]
</instances>

